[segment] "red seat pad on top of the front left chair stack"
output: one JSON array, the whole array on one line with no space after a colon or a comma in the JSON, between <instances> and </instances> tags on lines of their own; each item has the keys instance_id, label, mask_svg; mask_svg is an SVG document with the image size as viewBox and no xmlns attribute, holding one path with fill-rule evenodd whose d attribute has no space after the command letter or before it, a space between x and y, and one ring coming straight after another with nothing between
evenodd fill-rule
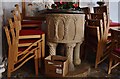
<instances>
[{"instance_id":1,"label":"red seat pad on top of the front left chair stack","mask_svg":"<svg viewBox=\"0 0 120 79\"><path fill-rule=\"evenodd\" d=\"M44 34L41 30L20 30L20 36L23 35L41 35Z\"/></svg>"}]
</instances>

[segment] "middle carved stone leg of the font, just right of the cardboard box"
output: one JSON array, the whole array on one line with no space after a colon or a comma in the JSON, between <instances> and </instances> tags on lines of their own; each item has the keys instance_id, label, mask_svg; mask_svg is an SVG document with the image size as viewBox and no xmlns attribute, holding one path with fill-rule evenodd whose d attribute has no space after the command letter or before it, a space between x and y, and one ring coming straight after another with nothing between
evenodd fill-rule
<instances>
[{"instance_id":1,"label":"middle carved stone leg of the font, just right of the cardboard box","mask_svg":"<svg viewBox=\"0 0 120 79\"><path fill-rule=\"evenodd\" d=\"M69 61L69 71L74 71L74 64L73 64L73 49L75 47L75 43L68 43L66 44L66 52L67 52L67 57Z\"/></svg>"}]
</instances>

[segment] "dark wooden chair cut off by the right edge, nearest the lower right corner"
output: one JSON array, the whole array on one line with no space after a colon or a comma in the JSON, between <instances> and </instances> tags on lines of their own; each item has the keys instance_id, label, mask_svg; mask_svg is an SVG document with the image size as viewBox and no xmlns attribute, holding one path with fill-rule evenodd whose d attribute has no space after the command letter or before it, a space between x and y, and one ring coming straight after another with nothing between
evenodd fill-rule
<instances>
[{"instance_id":1,"label":"dark wooden chair cut off by the right edge, nearest the lower right corner","mask_svg":"<svg viewBox=\"0 0 120 79\"><path fill-rule=\"evenodd\" d=\"M112 38L112 52L110 53L108 74L120 64L120 30L110 29ZM114 62L115 61L115 62ZM113 63L114 62L114 63Z\"/></svg>"}]
</instances>

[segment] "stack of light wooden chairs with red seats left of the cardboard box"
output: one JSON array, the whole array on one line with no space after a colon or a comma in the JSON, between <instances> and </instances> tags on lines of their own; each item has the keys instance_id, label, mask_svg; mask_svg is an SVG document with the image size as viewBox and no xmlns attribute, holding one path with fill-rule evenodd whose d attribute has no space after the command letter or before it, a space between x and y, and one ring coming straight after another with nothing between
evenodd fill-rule
<instances>
[{"instance_id":1,"label":"stack of light wooden chairs with red seats left of the cardboard box","mask_svg":"<svg viewBox=\"0 0 120 79\"><path fill-rule=\"evenodd\" d=\"M34 34L32 34L33 31L31 30L20 30L19 21L13 23L9 19L9 24L10 30L7 26L4 27L9 45L8 77L32 58L35 59L35 72L38 75L39 60L42 57L44 58L44 33L34 31Z\"/></svg>"}]
</instances>

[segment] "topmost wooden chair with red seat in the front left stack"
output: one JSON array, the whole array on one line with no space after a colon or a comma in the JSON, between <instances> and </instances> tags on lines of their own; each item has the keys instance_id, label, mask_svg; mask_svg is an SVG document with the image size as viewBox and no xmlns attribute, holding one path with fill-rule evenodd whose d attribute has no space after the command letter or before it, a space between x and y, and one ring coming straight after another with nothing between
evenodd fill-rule
<instances>
[{"instance_id":1,"label":"topmost wooden chair with red seat in the front left stack","mask_svg":"<svg viewBox=\"0 0 120 79\"><path fill-rule=\"evenodd\" d=\"M13 10L13 17L14 17L14 21L19 21L19 30L20 30L20 36L26 36L27 38L41 38L42 39L42 60L45 56L45 33L43 31L41 31L40 29L23 29L22 28L22 24L21 21L18 19L18 17L14 14L14 10ZM24 37L24 38L26 38Z\"/></svg>"}]
</instances>

